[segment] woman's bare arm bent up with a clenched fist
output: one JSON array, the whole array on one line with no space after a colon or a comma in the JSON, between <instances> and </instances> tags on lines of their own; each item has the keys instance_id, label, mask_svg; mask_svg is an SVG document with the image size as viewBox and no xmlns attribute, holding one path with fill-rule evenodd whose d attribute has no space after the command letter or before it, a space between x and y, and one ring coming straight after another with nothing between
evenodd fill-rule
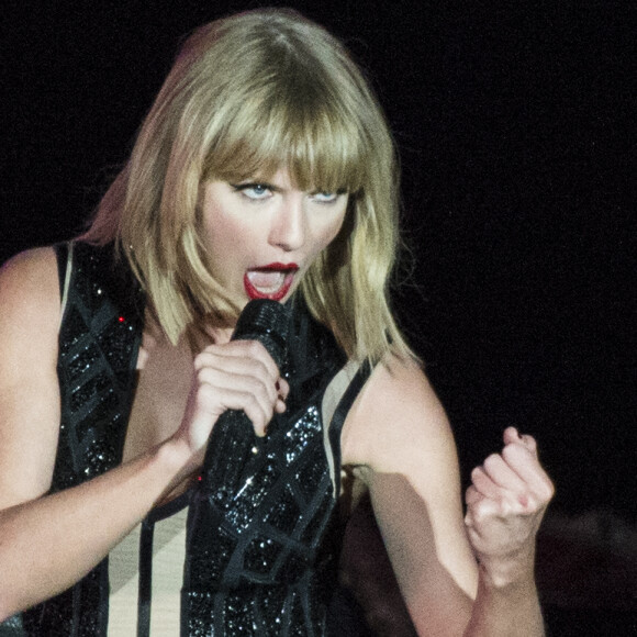
<instances>
[{"instance_id":1,"label":"woman's bare arm bent up with a clenched fist","mask_svg":"<svg viewBox=\"0 0 637 637\"><path fill-rule=\"evenodd\" d=\"M543 634L533 559L552 487L537 458L528 449L515 452L521 450L545 491L529 496L524 511L504 510L498 490L471 494L469 537L454 438L418 367L398 360L378 366L355 404L343 434L344 463L356 467L370 490L420 634L498 636L511 635L512 627L516 635Z\"/></svg>"}]
</instances>

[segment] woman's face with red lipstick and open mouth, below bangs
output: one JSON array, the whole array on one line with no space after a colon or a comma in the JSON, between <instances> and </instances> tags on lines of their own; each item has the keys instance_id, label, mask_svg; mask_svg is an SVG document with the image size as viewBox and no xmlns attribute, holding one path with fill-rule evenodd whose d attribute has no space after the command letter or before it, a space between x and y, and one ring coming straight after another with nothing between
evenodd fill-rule
<instances>
[{"instance_id":1,"label":"woman's face with red lipstick and open mouth, below bangs","mask_svg":"<svg viewBox=\"0 0 637 637\"><path fill-rule=\"evenodd\" d=\"M346 192L297 190L287 170L267 181L210 181L203 224L213 275L239 308L287 300L338 234L346 208Z\"/></svg>"}]
</instances>

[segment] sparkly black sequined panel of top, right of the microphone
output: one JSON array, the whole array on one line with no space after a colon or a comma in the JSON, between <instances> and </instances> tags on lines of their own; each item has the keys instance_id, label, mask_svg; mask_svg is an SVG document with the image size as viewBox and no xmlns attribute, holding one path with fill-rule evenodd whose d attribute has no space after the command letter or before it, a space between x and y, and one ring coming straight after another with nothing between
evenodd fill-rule
<instances>
[{"instance_id":1,"label":"sparkly black sequined panel of top, right of the microphone","mask_svg":"<svg viewBox=\"0 0 637 637\"><path fill-rule=\"evenodd\" d=\"M345 359L331 333L293 315L282 366L290 382L287 412L275 416L262 442L254 437L234 489L220 461L204 466L193 493L183 635L325 635L340 529L321 402ZM226 456L226 463L237 457L232 449Z\"/></svg>"}]
</instances>

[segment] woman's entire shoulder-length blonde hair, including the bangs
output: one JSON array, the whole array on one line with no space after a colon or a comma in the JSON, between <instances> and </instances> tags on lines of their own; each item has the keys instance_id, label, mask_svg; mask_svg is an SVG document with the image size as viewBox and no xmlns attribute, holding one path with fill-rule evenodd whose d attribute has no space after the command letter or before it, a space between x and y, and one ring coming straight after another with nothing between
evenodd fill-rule
<instances>
[{"instance_id":1,"label":"woman's entire shoulder-length blonde hair, including the bangs","mask_svg":"<svg viewBox=\"0 0 637 637\"><path fill-rule=\"evenodd\" d=\"M349 192L339 235L301 283L310 311L349 357L409 355L388 301L399 245L393 141L345 47L294 11L239 13L186 41L82 238L115 241L176 343L238 312L208 265L202 185L281 167L302 190Z\"/></svg>"}]
</instances>

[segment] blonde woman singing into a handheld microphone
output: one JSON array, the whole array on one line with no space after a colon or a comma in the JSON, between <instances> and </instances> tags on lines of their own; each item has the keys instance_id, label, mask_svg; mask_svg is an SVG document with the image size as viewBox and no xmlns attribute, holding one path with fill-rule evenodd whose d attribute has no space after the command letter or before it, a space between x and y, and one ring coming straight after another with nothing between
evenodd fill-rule
<instances>
[{"instance_id":1,"label":"blonde woman singing into a handheld microphone","mask_svg":"<svg viewBox=\"0 0 637 637\"><path fill-rule=\"evenodd\" d=\"M332 35L284 10L194 32L88 232L0 275L2 619L327 635L367 492L418 634L543 634L552 484L509 428L463 518L449 424L388 303L398 191ZM232 338L255 300L286 308L276 361ZM247 456L238 428L215 438L228 411Z\"/></svg>"}]
</instances>

